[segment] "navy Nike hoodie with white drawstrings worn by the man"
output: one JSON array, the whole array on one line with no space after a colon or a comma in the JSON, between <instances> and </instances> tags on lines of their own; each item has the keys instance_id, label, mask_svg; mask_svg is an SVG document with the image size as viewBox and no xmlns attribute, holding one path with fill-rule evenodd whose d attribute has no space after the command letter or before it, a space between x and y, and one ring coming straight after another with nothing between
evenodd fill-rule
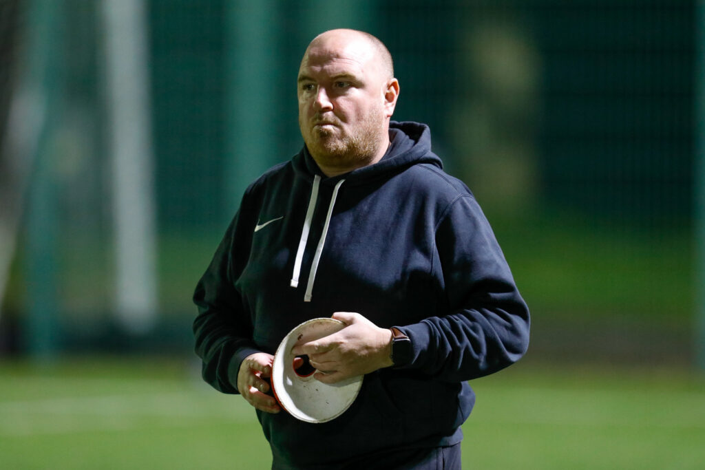
<instances>
[{"instance_id":1,"label":"navy Nike hoodie with white drawstrings worn by the man","mask_svg":"<svg viewBox=\"0 0 705 470\"><path fill-rule=\"evenodd\" d=\"M472 193L443 172L426 125L392 122L390 137L381 161L345 175L326 178L306 148L264 173L196 287L196 352L221 392L238 392L249 354L274 354L299 323L336 311L411 339L410 364L364 376L333 421L257 411L274 468L458 443L467 381L527 350L529 311Z\"/></svg>"}]
</instances>

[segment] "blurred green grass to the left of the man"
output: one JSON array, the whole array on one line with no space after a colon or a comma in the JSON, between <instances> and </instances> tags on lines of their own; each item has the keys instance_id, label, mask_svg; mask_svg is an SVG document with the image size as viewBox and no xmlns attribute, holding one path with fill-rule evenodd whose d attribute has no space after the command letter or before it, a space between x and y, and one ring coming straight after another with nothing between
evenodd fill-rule
<instances>
[{"instance_id":1,"label":"blurred green grass to the left of the man","mask_svg":"<svg viewBox=\"0 0 705 470\"><path fill-rule=\"evenodd\" d=\"M194 364L141 359L0 366L7 469L268 468L252 410Z\"/></svg>"}]
</instances>

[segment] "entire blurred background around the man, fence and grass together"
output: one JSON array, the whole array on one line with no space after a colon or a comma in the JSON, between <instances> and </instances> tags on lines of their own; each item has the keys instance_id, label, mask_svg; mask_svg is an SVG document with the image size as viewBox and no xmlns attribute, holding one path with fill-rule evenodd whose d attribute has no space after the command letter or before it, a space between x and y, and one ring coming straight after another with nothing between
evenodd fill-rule
<instances>
[{"instance_id":1,"label":"entire blurred background around the man, fence and grass together","mask_svg":"<svg viewBox=\"0 0 705 470\"><path fill-rule=\"evenodd\" d=\"M472 381L474 468L701 468L695 0L0 0L0 466L269 465L198 378L191 296L299 151L333 27L391 50L394 117L430 125L532 310L527 357Z\"/></svg>"}]
</instances>

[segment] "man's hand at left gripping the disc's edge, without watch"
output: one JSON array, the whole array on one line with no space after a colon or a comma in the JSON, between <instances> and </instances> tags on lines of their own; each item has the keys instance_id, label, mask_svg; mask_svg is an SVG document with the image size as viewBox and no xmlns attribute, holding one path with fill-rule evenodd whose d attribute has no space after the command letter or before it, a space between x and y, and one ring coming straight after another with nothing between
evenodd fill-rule
<instances>
[{"instance_id":1,"label":"man's hand at left gripping the disc's edge, without watch","mask_svg":"<svg viewBox=\"0 0 705 470\"><path fill-rule=\"evenodd\" d=\"M274 356L266 354L266 352L257 352L245 357L245 360L240 364L240 371L238 371L238 390L240 395L243 395L243 398L253 407L267 413L278 413L281 411L276 399L266 395L270 386L269 383L262 380L263 378L271 377L271 366L273 363Z\"/></svg>"}]
</instances>

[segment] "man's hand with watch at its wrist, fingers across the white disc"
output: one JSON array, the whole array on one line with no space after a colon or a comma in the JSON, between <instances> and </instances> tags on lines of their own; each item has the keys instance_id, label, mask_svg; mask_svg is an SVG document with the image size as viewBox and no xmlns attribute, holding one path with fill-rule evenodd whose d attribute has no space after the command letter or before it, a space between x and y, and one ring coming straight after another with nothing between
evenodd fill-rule
<instances>
[{"instance_id":1,"label":"man's hand with watch at its wrist, fingers across the white disc","mask_svg":"<svg viewBox=\"0 0 705 470\"><path fill-rule=\"evenodd\" d=\"M345 328L315 341L297 343L291 351L295 356L308 355L311 365L318 369L314 378L336 383L393 365L389 357L390 330L347 311L336 312L333 319L345 323Z\"/></svg>"}]
</instances>

